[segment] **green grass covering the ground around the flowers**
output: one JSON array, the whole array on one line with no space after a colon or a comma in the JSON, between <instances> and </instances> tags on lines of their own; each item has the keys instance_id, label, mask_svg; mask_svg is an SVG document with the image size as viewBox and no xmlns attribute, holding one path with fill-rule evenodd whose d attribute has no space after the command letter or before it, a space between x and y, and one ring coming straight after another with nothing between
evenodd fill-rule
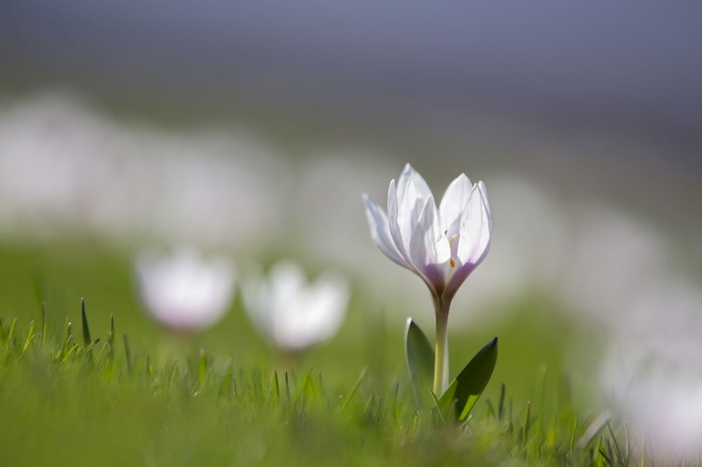
<instances>
[{"instance_id":1,"label":"green grass covering the ground around the flowers","mask_svg":"<svg viewBox=\"0 0 702 467\"><path fill-rule=\"evenodd\" d=\"M0 465L642 462L623 425L598 423L597 402L562 383L571 330L543 319L543 298L524 297L498 329L451 335L455 363L492 334L501 345L458 426L416 410L397 313L357 300L337 339L292 360L256 337L240 302L204 335L164 334L135 302L122 253L11 245L0 261Z\"/></svg>"}]
</instances>

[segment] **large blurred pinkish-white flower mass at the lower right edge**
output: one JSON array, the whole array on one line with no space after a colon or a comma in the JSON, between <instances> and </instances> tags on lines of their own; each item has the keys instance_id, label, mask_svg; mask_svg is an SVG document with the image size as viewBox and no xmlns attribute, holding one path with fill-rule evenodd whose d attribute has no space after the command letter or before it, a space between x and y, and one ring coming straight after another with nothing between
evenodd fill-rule
<instances>
[{"instance_id":1,"label":"large blurred pinkish-white flower mass at the lower right edge","mask_svg":"<svg viewBox=\"0 0 702 467\"><path fill-rule=\"evenodd\" d=\"M600 386L661 453L702 452L702 293L666 271L633 297L612 334Z\"/></svg>"}]
</instances>

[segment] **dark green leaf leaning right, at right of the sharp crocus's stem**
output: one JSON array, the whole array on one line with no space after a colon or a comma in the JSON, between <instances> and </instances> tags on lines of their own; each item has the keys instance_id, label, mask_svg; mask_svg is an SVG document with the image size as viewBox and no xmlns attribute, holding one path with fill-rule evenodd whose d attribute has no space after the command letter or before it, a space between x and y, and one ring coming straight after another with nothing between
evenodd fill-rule
<instances>
[{"instance_id":1,"label":"dark green leaf leaning right, at right of the sharp crocus's stem","mask_svg":"<svg viewBox=\"0 0 702 467\"><path fill-rule=\"evenodd\" d=\"M497 362L497 337L489 341L486 346L475 354L468 365L465 365L456 379L451 381L449 387L439 398L440 409L444 413L451 410L455 401L456 420L464 420L470 410L475 406L480 395L490 381L492 372Z\"/></svg>"}]
</instances>

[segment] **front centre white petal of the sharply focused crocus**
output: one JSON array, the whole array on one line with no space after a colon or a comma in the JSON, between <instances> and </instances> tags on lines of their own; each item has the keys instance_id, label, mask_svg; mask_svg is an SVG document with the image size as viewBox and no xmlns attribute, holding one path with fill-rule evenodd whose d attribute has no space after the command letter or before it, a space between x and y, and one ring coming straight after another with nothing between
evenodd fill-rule
<instances>
[{"instance_id":1,"label":"front centre white petal of the sharply focused crocus","mask_svg":"<svg viewBox=\"0 0 702 467\"><path fill-rule=\"evenodd\" d=\"M446 285L451 248L439 227L439 213L430 196L412 234L410 255L412 264L424 280L438 292Z\"/></svg>"}]
</instances>

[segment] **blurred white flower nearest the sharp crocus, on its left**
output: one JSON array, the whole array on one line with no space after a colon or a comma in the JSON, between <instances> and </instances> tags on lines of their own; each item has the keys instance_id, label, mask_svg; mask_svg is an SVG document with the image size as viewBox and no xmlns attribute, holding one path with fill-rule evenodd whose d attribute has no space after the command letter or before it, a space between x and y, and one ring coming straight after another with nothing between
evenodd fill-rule
<instances>
[{"instance_id":1,"label":"blurred white flower nearest the sharp crocus, on its left","mask_svg":"<svg viewBox=\"0 0 702 467\"><path fill-rule=\"evenodd\" d=\"M300 351L331 339L349 301L346 280L325 272L309 283L293 262L274 264L265 278L244 283L246 311L260 332L284 351Z\"/></svg>"}]
</instances>

